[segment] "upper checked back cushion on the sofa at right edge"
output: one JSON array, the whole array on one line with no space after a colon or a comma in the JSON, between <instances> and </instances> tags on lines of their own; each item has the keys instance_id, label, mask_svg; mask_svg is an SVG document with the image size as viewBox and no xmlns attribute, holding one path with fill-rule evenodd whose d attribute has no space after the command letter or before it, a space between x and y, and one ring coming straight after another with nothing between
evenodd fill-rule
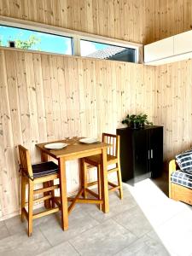
<instances>
[{"instance_id":1,"label":"upper checked back cushion on the sofa at right edge","mask_svg":"<svg viewBox=\"0 0 192 256\"><path fill-rule=\"evenodd\" d=\"M177 165L183 172L192 173L192 150L176 155Z\"/></svg>"}]
</instances>

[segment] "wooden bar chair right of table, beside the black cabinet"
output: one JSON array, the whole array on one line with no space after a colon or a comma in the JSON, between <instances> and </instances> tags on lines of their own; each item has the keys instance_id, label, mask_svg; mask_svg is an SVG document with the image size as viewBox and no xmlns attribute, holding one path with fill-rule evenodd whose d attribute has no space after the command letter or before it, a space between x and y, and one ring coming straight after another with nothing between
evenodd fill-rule
<instances>
[{"instance_id":1,"label":"wooden bar chair right of table, beside the black cabinet","mask_svg":"<svg viewBox=\"0 0 192 256\"><path fill-rule=\"evenodd\" d=\"M112 169L108 170L108 174L112 172L117 173L117 182L112 183L108 180L108 185L110 186L109 191L117 190L119 189L119 198L123 198L123 189L122 189L122 181L121 181L121 171L120 171L120 162L119 162L119 136L108 134L108 133L102 133L102 142L108 143L113 145L112 147L108 148L107 152L107 164L108 166L115 165ZM87 165L88 164L88 165ZM87 172L90 169L90 167L96 166L97 168L97 181L92 183L87 183ZM87 192L91 195L96 196L98 199L102 199L101 196L101 157L100 155L93 155L90 157L84 158L84 197L87 196ZM93 186L97 184L98 186L98 195L96 195L95 192L89 189L90 186ZM100 209L101 209L100 205Z\"/></svg>"}]
</instances>

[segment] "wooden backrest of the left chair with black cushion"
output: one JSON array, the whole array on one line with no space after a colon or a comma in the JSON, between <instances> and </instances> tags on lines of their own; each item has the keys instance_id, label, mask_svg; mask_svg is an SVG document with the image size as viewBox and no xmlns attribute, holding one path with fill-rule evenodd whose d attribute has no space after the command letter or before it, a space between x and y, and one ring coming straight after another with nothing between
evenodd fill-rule
<instances>
[{"instance_id":1,"label":"wooden backrest of the left chair with black cushion","mask_svg":"<svg viewBox=\"0 0 192 256\"><path fill-rule=\"evenodd\" d=\"M22 172L26 172L29 177L33 176L32 173L32 163L28 149L19 145L19 154L20 154L20 168Z\"/></svg>"}]
</instances>

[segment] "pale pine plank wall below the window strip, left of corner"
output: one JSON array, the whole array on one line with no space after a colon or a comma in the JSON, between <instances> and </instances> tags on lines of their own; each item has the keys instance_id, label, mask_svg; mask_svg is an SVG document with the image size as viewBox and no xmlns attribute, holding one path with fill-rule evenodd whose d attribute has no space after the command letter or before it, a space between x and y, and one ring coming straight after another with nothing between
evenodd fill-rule
<instances>
[{"instance_id":1,"label":"pale pine plank wall below the window strip, left of corner","mask_svg":"<svg viewBox=\"0 0 192 256\"><path fill-rule=\"evenodd\" d=\"M18 144L29 148L36 162L36 143L73 136L101 138L103 131L121 127L127 113L148 111L154 119L154 67L11 49L0 50L0 61L2 218L19 209ZM68 162L67 191L78 185L78 162Z\"/></svg>"}]
</instances>

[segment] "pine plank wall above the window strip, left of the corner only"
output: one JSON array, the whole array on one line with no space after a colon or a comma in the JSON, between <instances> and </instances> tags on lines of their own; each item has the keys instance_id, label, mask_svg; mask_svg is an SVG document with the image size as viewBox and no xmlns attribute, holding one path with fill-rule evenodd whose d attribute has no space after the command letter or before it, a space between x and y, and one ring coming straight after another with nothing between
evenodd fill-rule
<instances>
[{"instance_id":1,"label":"pine plank wall above the window strip, left of the corner only","mask_svg":"<svg viewBox=\"0 0 192 256\"><path fill-rule=\"evenodd\" d=\"M0 0L0 15L139 43L144 7L141 0Z\"/></svg>"}]
</instances>

